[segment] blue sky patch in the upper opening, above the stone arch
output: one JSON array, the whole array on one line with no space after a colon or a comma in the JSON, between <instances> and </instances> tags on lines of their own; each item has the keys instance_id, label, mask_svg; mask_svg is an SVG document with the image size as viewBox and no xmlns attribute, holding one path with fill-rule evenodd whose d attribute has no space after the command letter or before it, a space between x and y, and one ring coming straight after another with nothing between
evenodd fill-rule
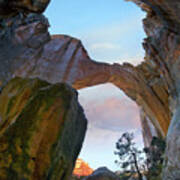
<instances>
[{"instance_id":1,"label":"blue sky patch in the upper opening, above the stone arch","mask_svg":"<svg viewBox=\"0 0 180 180\"><path fill-rule=\"evenodd\" d=\"M46 10L52 34L82 40L98 61L139 62L143 59L144 13L124 0L53 0Z\"/></svg>"}]
</instances>

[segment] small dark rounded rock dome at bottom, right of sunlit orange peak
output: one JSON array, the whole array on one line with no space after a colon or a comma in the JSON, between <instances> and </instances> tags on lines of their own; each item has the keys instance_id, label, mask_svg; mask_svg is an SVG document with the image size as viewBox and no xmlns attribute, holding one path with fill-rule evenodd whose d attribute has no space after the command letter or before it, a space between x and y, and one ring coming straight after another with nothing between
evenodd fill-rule
<instances>
[{"instance_id":1,"label":"small dark rounded rock dome at bottom, right of sunlit orange peak","mask_svg":"<svg viewBox=\"0 0 180 180\"><path fill-rule=\"evenodd\" d=\"M98 168L92 175L85 177L83 180L120 180L118 176L106 167Z\"/></svg>"}]
</instances>

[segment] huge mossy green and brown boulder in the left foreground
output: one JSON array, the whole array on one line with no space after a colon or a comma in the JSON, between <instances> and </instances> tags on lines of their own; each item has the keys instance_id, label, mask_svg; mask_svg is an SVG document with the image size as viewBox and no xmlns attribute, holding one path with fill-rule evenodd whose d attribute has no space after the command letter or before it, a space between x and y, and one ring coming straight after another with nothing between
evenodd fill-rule
<instances>
[{"instance_id":1,"label":"huge mossy green and brown boulder in the left foreground","mask_svg":"<svg viewBox=\"0 0 180 180\"><path fill-rule=\"evenodd\" d=\"M69 180L87 123L75 90L15 78L0 102L0 179Z\"/></svg>"}]
</instances>

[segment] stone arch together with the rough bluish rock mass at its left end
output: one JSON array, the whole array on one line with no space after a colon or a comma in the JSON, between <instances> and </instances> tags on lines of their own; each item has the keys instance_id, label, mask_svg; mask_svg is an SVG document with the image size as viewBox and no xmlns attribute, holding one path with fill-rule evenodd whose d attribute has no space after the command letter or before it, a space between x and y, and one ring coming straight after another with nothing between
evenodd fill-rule
<instances>
[{"instance_id":1,"label":"stone arch together with the rough bluish rock mass at its left end","mask_svg":"<svg viewBox=\"0 0 180 180\"><path fill-rule=\"evenodd\" d=\"M38 77L50 83L67 82L76 89L111 82L135 100L158 134L165 136L171 117L169 92L153 62L137 67L128 63L97 63L91 60L79 40L50 36L47 19L42 15L17 15L3 21L2 26L2 84L14 75Z\"/></svg>"}]
</instances>

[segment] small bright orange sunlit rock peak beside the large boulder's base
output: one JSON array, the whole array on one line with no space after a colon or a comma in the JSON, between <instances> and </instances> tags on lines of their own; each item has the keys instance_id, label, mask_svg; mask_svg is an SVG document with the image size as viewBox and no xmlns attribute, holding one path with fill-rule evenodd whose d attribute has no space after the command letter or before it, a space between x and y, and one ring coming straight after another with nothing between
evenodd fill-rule
<instances>
[{"instance_id":1,"label":"small bright orange sunlit rock peak beside the large boulder's base","mask_svg":"<svg viewBox=\"0 0 180 180\"><path fill-rule=\"evenodd\" d=\"M77 159L73 175L76 177L89 176L93 173L93 169L90 168L89 164L84 162L82 159Z\"/></svg>"}]
</instances>

